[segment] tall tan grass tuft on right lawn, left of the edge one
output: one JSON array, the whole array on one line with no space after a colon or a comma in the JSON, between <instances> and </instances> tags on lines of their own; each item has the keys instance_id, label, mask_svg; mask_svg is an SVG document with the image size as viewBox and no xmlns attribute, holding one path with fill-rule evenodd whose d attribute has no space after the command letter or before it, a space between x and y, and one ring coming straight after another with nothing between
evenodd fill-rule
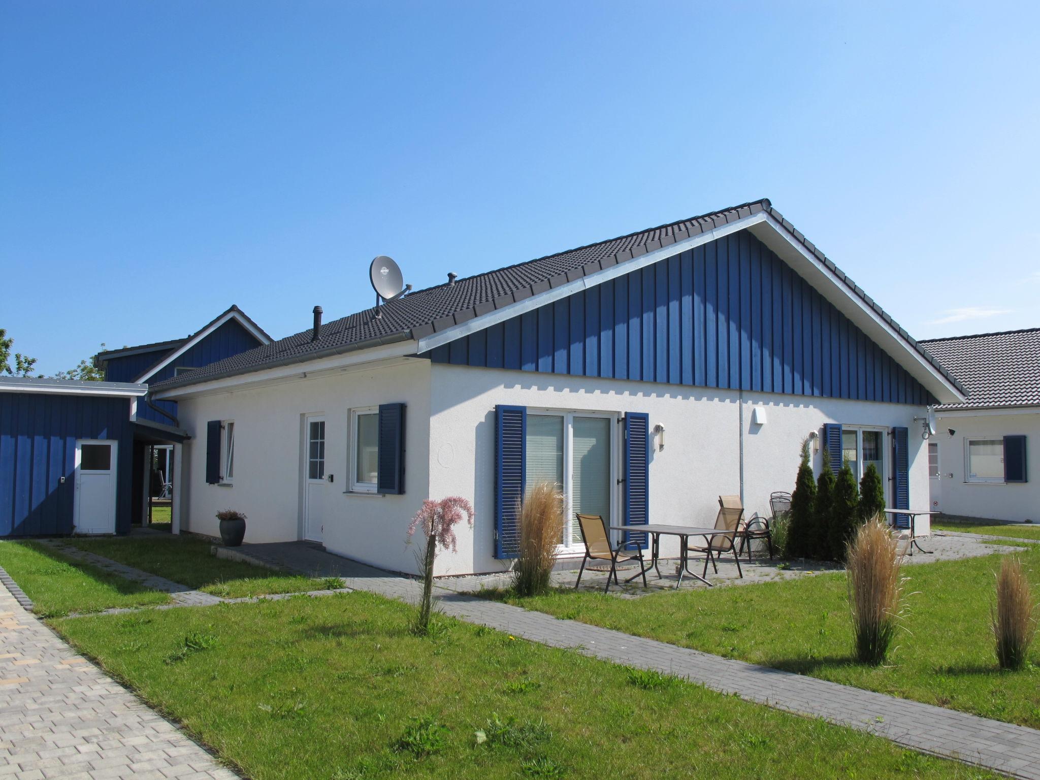
<instances>
[{"instance_id":1,"label":"tall tan grass tuft on right lawn, left of the edge one","mask_svg":"<svg viewBox=\"0 0 1040 780\"><path fill-rule=\"evenodd\" d=\"M864 523L846 553L853 646L860 664L885 660L900 624L902 556L883 523Z\"/></svg>"}]
</instances>

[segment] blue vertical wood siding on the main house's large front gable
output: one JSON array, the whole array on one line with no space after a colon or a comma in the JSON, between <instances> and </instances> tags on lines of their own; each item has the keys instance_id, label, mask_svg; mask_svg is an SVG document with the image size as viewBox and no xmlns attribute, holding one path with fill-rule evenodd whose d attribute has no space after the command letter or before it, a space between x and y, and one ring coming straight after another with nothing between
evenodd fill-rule
<instances>
[{"instance_id":1,"label":"blue vertical wood siding on the main house's large front gable","mask_svg":"<svg viewBox=\"0 0 1040 780\"><path fill-rule=\"evenodd\" d=\"M488 346L498 338L495 328L504 334L501 350ZM427 355L456 365L938 402L747 232L578 291Z\"/></svg>"}]
</instances>

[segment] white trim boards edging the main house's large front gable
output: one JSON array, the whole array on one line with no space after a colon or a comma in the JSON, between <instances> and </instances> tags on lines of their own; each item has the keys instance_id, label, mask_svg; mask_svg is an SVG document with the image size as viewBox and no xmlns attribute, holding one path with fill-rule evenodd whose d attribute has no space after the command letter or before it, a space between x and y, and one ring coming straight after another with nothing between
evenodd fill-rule
<instances>
[{"instance_id":1,"label":"white trim boards edging the main house's large front gable","mask_svg":"<svg viewBox=\"0 0 1040 780\"><path fill-rule=\"evenodd\" d=\"M632 260L625 260L609 268L604 268L581 279L576 279L573 282L568 282L560 287L531 295L488 314L473 317L462 324L431 334L425 338L419 339L418 353L428 352L437 346L460 339L463 336L482 331L489 326L502 322L553 301L572 295L579 290L595 287L607 280L630 274L673 255L686 252L695 246L714 241L740 230L749 230L762 243L773 250L799 276L808 281L825 298L849 317L882 349L894 357L901 366L939 399L940 404L954 404L965 400L965 396L961 391L901 336L899 331L886 322L877 311L851 290L833 270L828 268L813 253L809 252L805 244L795 238L780 223L764 211L714 228L698 236L676 241L659 250L640 255Z\"/></svg>"}]
</instances>

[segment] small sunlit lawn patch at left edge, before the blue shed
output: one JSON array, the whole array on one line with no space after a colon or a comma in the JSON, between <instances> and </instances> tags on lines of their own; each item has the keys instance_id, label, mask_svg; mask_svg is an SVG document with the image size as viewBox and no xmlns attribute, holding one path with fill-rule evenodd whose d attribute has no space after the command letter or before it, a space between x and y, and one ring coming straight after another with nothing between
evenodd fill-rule
<instances>
[{"instance_id":1,"label":"small sunlit lawn patch at left edge, before the blue shed","mask_svg":"<svg viewBox=\"0 0 1040 780\"><path fill-rule=\"evenodd\" d=\"M43 616L170 603L152 591L93 566L69 561L35 542L0 542L0 566Z\"/></svg>"}]
</instances>

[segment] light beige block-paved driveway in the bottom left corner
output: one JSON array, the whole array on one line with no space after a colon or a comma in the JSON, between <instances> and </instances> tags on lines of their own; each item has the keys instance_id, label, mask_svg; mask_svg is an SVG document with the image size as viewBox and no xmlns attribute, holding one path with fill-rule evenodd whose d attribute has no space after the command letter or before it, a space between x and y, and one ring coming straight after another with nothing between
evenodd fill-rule
<instances>
[{"instance_id":1,"label":"light beige block-paved driveway in the bottom left corner","mask_svg":"<svg viewBox=\"0 0 1040 780\"><path fill-rule=\"evenodd\" d=\"M0 582L0 778L236 780Z\"/></svg>"}]
</instances>

